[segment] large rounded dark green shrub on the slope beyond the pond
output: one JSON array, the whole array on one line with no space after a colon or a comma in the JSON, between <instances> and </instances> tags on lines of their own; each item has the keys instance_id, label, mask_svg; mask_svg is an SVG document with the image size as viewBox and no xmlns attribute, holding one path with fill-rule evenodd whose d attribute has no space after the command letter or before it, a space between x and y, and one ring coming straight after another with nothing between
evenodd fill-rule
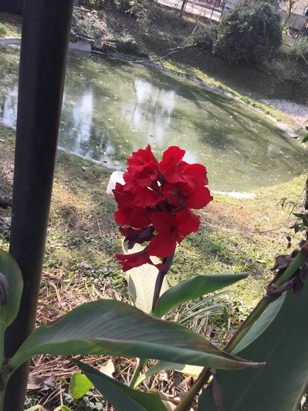
<instances>
[{"instance_id":1,"label":"large rounded dark green shrub on the slope beyond the pond","mask_svg":"<svg viewBox=\"0 0 308 411\"><path fill-rule=\"evenodd\" d=\"M213 53L229 62L262 62L281 45L279 16L270 5L240 6L222 18Z\"/></svg>"}]
</instances>

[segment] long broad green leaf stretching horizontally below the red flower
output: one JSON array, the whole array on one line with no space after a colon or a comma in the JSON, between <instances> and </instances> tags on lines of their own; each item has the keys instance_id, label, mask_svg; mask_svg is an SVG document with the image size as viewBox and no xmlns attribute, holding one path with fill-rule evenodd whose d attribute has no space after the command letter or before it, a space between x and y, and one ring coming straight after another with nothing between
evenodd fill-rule
<instances>
[{"instance_id":1,"label":"long broad green leaf stretching horizontally below the red flower","mask_svg":"<svg viewBox=\"0 0 308 411\"><path fill-rule=\"evenodd\" d=\"M111 355L245 369L261 366L224 353L184 325L163 321L116 300L75 308L50 325L41 325L10 360L13 370L37 354Z\"/></svg>"}]
</instances>

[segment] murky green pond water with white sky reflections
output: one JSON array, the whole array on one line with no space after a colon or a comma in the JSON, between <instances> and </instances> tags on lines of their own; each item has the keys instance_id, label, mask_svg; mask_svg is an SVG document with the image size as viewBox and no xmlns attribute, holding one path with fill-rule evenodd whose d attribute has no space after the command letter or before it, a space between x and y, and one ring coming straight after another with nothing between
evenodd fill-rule
<instances>
[{"instance_id":1,"label":"murky green pond water with white sky reflections","mask_svg":"<svg viewBox=\"0 0 308 411\"><path fill-rule=\"evenodd\" d=\"M0 121L10 127L18 58L18 47L0 49ZM307 166L300 144L248 105L143 66L70 53L59 147L124 167L148 143L157 156L170 145L185 149L186 161L207 166L215 190L290 181Z\"/></svg>"}]
</instances>

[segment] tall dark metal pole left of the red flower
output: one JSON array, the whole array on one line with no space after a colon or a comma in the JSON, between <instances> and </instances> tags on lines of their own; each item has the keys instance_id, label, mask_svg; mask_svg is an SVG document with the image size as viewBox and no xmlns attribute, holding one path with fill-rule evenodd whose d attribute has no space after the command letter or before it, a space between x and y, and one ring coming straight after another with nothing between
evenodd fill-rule
<instances>
[{"instance_id":1,"label":"tall dark metal pole left of the red flower","mask_svg":"<svg viewBox=\"0 0 308 411\"><path fill-rule=\"evenodd\" d=\"M73 0L24 0L10 253L24 279L21 309L5 331L10 358L34 329L49 217ZM29 363L5 393L23 411Z\"/></svg>"}]
</instances>

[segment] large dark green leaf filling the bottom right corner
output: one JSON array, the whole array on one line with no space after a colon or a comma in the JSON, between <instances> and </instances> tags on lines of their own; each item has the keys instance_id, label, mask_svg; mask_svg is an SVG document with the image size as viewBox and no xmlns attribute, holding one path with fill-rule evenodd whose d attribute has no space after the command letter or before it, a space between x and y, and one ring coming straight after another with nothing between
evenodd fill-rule
<instances>
[{"instance_id":1,"label":"large dark green leaf filling the bottom right corner","mask_svg":"<svg viewBox=\"0 0 308 411\"><path fill-rule=\"evenodd\" d=\"M253 371L218 371L224 411L297 411L308 384L308 283L299 297L287 291L283 306L266 331L240 355L268 366ZM199 409L216 411L211 387Z\"/></svg>"}]
</instances>

